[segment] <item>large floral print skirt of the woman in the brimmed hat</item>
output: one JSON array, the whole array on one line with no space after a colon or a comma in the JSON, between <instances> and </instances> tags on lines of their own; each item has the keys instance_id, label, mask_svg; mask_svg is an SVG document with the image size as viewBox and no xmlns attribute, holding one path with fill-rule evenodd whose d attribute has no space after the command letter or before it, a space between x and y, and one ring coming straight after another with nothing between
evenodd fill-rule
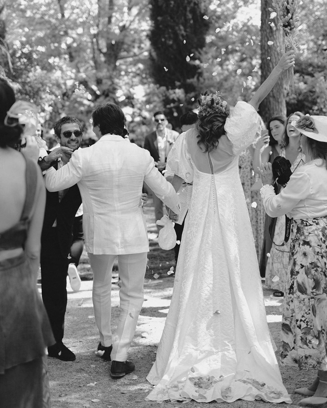
<instances>
[{"instance_id":1,"label":"large floral print skirt of the woman in the brimmed hat","mask_svg":"<svg viewBox=\"0 0 327 408\"><path fill-rule=\"evenodd\" d=\"M327 217L294 220L281 363L327 370Z\"/></svg>"}]
</instances>

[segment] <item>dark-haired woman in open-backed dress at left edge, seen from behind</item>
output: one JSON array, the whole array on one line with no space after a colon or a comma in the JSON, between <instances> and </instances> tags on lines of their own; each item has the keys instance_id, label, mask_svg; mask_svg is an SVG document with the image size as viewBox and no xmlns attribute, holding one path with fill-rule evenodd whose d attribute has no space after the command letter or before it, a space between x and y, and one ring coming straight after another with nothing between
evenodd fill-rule
<instances>
[{"instance_id":1,"label":"dark-haired woman in open-backed dress at left edge, seen from behind","mask_svg":"<svg viewBox=\"0 0 327 408\"><path fill-rule=\"evenodd\" d=\"M36 287L45 188L32 136L34 161L13 149L27 127L14 102L0 79L0 405L50 408L44 350L54 340Z\"/></svg>"}]
</instances>

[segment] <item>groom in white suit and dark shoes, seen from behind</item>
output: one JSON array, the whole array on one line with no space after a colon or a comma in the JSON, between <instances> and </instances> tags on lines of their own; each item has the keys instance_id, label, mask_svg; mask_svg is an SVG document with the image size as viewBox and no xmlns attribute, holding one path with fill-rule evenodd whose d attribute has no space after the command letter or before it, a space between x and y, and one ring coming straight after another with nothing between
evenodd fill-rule
<instances>
[{"instance_id":1,"label":"groom in white suit and dark shoes, seen from behind","mask_svg":"<svg viewBox=\"0 0 327 408\"><path fill-rule=\"evenodd\" d=\"M49 191L76 183L80 189L100 342L111 356L111 376L122 377L134 370L134 364L127 361L127 351L143 303L149 251L147 226L140 206L143 182L176 214L180 212L179 199L149 152L121 136L125 117L116 104L97 106L92 119L98 142L75 151L69 163L58 171L49 169L45 184ZM118 326L112 335L111 271L117 256L122 286Z\"/></svg>"}]
</instances>

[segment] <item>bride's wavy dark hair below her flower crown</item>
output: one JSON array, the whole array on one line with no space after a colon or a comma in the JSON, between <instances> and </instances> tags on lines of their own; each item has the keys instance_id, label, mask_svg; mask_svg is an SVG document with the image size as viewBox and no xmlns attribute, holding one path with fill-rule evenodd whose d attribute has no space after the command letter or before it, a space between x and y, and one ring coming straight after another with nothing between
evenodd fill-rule
<instances>
[{"instance_id":1,"label":"bride's wavy dark hair below her flower crown","mask_svg":"<svg viewBox=\"0 0 327 408\"><path fill-rule=\"evenodd\" d=\"M225 112L211 113L199 116L196 130L198 131L198 146L205 152L211 152L218 146L219 139L225 135L225 122L229 116L229 106L225 106Z\"/></svg>"}]
</instances>

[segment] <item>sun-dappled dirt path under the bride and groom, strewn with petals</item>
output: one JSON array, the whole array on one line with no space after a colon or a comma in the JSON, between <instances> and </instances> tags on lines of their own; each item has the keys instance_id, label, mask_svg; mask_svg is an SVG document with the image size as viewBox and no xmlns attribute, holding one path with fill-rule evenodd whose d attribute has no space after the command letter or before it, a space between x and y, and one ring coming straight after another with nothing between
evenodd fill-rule
<instances>
[{"instance_id":1,"label":"sun-dappled dirt path under the bride and groom, strewn with petals","mask_svg":"<svg viewBox=\"0 0 327 408\"><path fill-rule=\"evenodd\" d=\"M150 237L154 238L154 222L152 219L151 203L147 206L146 215L150 229ZM174 253L161 251L155 241L151 241L149 255L150 268L145 279L145 299L136 335L132 342L129 359L136 365L135 372L125 377L113 380L109 375L110 363L102 361L96 356L95 351L99 342L92 305L92 282L83 280L80 291L73 293L69 286L68 306L65 322L65 344L76 353L76 361L63 362L49 358L49 377L51 388L52 408L150 408L157 407L157 402L145 401L145 396L152 386L147 382L146 376L156 357L156 348L160 340L165 317L170 304L173 275L168 276L167 271L174 265ZM79 267L83 279L89 279L90 271L86 254ZM153 273L152 273L153 271ZM158 279L153 275L158 273ZM113 282L118 281L117 273ZM118 317L118 284L112 287L112 319L113 326ZM271 334L279 348L280 332L280 298L272 298L271 290L264 290L267 320ZM284 384L291 395L293 404L298 406L302 398L293 393L298 387L303 387L314 379L313 371L298 371L296 368L281 368ZM189 408L201 408L204 404L195 401L184 403L163 402L162 407L171 408L180 404L187 404ZM211 407L225 408L228 403L209 403ZM236 401L232 407L236 408L261 408L269 407L262 401ZM283 404L286 406L286 404Z\"/></svg>"}]
</instances>

